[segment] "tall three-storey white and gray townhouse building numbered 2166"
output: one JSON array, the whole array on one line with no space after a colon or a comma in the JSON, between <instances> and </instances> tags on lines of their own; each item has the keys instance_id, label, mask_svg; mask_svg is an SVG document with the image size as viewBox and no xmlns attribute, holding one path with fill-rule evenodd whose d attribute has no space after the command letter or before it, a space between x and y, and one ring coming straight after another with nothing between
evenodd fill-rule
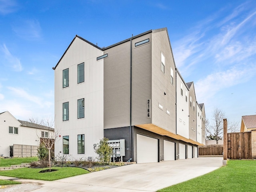
<instances>
[{"instance_id":1,"label":"tall three-storey white and gray townhouse building numbered 2166","mask_svg":"<svg viewBox=\"0 0 256 192\"><path fill-rule=\"evenodd\" d=\"M106 137L125 140L124 161L197 157L203 144L194 84L176 69L166 28L103 48L76 35L53 69L62 137L55 153L95 158L96 143Z\"/></svg>"}]
</instances>

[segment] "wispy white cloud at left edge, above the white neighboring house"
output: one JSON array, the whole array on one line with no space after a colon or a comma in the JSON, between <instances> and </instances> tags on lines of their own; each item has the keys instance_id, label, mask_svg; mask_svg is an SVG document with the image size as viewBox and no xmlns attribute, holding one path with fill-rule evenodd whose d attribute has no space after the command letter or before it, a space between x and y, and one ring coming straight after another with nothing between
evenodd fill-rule
<instances>
[{"instance_id":1,"label":"wispy white cloud at left edge, above the white neighboring house","mask_svg":"<svg viewBox=\"0 0 256 192\"><path fill-rule=\"evenodd\" d=\"M0 48L2 53L4 53L4 61L2 63L5 63L6 66L11 66L14 71L22 71L20 59L12 55L5 44Z\"/></svg>"}]
</instances>

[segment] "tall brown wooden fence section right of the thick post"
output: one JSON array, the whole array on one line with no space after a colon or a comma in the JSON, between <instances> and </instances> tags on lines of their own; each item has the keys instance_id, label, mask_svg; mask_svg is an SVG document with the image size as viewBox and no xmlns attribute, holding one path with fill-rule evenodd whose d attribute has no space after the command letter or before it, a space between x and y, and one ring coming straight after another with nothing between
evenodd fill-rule
<instances>
[{"instance_id":1,"label":"tall brown wooden fence section right of the thick post","mask_svg":"<svg viewBox=\"0 0 256 192\"><path fill-rule=\"evenodd\" d=\"M228 159L252 159L251 132L228 133Z\"/></svg>"}]
</instances>

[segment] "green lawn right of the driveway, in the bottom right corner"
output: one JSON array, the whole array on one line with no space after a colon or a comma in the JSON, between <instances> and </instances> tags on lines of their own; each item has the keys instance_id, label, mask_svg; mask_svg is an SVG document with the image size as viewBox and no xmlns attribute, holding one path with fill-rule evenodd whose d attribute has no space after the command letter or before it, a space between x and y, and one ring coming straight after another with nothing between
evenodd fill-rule
<instances>
[{"instance_id":1,"label":"green lawn right of the driveway, in the bottom right corner","mask_svg":"<svg viewBox=\"0 0 256 192\"><path fill-rule=\"evenodd\" d=\"M256 191L256 161L230 160L227 166L158 192L252 192Z\"/></svg>"}]
</instances>

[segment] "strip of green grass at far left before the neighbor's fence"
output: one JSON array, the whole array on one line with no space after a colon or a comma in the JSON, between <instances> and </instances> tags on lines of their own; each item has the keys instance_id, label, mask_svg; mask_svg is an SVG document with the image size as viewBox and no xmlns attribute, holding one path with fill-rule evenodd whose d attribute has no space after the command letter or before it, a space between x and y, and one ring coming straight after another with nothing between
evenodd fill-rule
<instances>
[{"instance_id":1,"label":"strip of green grass at far left before the neighbor's fence","mask_svg":"<svg viewBox=\"0 0 256 192\"><path fill-rule=\"evenodd\" d=\"M20 165L31 161L38 161L38 157L0 158L0 167L10 167L11 165Z\"/></svg>"}]
</instances>

